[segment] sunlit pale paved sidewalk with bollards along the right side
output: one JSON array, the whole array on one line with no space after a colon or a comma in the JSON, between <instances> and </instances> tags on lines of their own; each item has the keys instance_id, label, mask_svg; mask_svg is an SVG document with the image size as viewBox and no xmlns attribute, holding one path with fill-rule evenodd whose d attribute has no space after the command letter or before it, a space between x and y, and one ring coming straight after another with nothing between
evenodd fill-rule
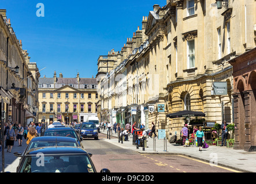
<instances>
[{"instance_id":1,"label":"sunlit pale paved sidewalk with bollards along the right side","mask_svg":"<svg viewBox=\"0 0 256 184\"><path fill-rule=\"evenodd\" d=\"M107 134L107 131L101 131L101 133ZM132 135L129 136L129 141L123 141L123 144L121 144L121 141L118 143L117 133L114 133L114 131L112 131L112 137L110 139L104 140L121 148L137 151L140 154L183 155L241 172L256 172L256 152L233 150L233 148L216 145L210 145L209 148L198 151L198 147L183 147L181 145L170 144L168 140L167 151L165 151L164 140L158 140L157 138L155 139L155 151L153 150L153 138L147 139L147 148L143 151L142 147L137 149L136 145L132 144Z\"/></svg>"}]
</instances>

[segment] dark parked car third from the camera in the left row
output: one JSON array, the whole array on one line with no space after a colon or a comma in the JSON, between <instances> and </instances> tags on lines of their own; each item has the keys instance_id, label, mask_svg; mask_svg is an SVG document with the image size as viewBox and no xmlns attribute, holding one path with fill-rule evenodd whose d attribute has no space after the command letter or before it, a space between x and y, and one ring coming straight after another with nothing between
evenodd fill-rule
<instances>
[{"instance_id":1,"label":"dark parked car third from the camera in the left row","mask_svg":"<svg viewBox=\"0 0 256 184\"><path fill-rule=\"evenodd\" d=\"M83 137L79 137L75 131L75 129L71 127L63 127L63 128L48 128L44 132L43 136L60 136L60 137L72 137L76 139L77 143L80 147L83 147L81 141L83 141Z\"/></svg>"}]
</instances>

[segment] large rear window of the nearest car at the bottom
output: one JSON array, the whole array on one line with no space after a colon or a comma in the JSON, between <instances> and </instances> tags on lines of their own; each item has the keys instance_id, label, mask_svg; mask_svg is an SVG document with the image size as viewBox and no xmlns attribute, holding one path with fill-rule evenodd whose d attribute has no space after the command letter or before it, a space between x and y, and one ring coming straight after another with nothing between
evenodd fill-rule
<instances>
[{"instance_id":1,"label":"large rear window of the nearest car at the bottom","mask_svg":"<svg viewBox=\"0 0 256 184\"><path fill-rule=\"evenodd\" d=\"M21 173L95 173L88 155L26 156Z\"/></svg>"}]
</instances>

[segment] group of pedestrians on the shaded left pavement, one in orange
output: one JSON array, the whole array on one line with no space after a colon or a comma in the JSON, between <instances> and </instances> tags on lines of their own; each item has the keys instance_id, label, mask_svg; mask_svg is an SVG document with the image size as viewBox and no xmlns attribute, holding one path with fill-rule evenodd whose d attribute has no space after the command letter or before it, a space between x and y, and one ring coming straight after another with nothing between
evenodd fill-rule
<instances>
[{"instance_id":1,"label":"group of pedestrians on the shaded left pavement, one in orange","mask_svg":"<svg viewBox=\"0 0 256 184\"><path fill-rule=\"evenodd\" d=\"M3 136L5 139L5 143L0 145L0 151L2 151L2 147L7 149L7 152L12 152L12 148L14 146L14 141L18 141L18 146L22 146L23 137L27 140L27 144L36 136L40 136L41 133L41 124L38 123L35 125L34 122L30 122L29 125L25 125L22 127L20 123L12 123L5 122L4 124L4 132ZM0 134L1 135L1 134ZM2 135L1 135L2 136ZM2 140L2 137L0 137Z\"/></svg>"}]
</instances>

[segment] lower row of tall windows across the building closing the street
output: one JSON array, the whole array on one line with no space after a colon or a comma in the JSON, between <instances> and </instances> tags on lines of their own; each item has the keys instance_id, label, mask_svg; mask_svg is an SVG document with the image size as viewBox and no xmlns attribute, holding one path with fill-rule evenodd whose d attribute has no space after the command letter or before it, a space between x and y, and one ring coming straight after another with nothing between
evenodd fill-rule
<instances>
[{"instance_id":1,"label":"lower row of tall windows across the building closing the street","mask_svg":"<svg viewBox=\"0 0 256 184\"><path fill-rule=\"evenodd\" d=\"M73 109L69 109L69 104L65 104L65 113L73 112L77 113L77 104L73 104ZM80 112L85 112L86 106L84 104L80 104ZM73 111L72 111L73 110ZM46 104L42 104L42 112L46 112ZM50 104L50 112L54 112L54 104ZM92 105L88 104L87 106L87 112L92 112ZM95 104L95 112L97 112L97 104ZM57 104L57 113L62 113L61 112L61 104Z\"/></svg>"}]
</instances>

